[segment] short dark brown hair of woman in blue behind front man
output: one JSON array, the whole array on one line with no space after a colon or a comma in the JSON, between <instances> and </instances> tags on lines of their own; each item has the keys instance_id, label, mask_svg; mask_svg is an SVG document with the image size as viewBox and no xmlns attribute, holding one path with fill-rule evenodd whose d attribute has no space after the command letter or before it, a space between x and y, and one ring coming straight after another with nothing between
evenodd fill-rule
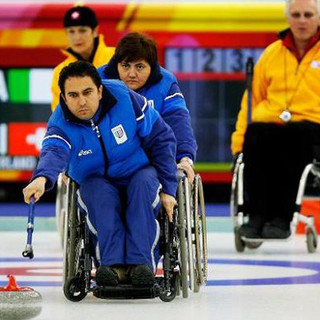
<instances>
[{"instance_id":1,"label":"short dark brown hair of woman in blue behind front man","mask_svg":"<svg viewBox=\"0 0 320 320\"><path fill-rule=\"evenodd\" d=\"M119 41L114 57L118 63L144 59L152 67L158 61L157 46L153 39L143 33L128 33Z\"/></svg>"}]
</instances>

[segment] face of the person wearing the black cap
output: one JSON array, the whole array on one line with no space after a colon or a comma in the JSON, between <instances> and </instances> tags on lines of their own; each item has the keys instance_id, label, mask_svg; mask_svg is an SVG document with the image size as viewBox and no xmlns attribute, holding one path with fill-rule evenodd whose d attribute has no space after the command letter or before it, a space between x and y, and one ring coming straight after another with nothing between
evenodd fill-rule
<instances>
[{"instance_id":1,"label":"face of the person wearing the black cap","mask_svg":"<svg viewBox=\"0 0 320 320\"><path fill-rule=\"evenodd\" d=\"M66 28L69 45L73 51L80 55L91 54L94 47L94 38L97 36L97 28L87 26L75 26Z\"/></svg>"}]
</instances>

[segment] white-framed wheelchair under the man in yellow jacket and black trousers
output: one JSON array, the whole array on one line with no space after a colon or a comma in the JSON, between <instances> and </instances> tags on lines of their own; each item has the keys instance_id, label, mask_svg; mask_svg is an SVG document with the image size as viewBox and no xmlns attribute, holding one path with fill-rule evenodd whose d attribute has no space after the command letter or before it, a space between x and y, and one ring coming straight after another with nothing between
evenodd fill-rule
<instances>
[{"instance_id":1,"label":"white-framed wheelchair under the man in yellow jacket and black trousers","mask_svg":"<svg viewBox=\"0 0 320 320\"><path fill-rule=\"evenodd\" d=\"M286 239L249 239L240 235L239 229L241 225L248 221L248 215L244 212L244 167L243 154L240 154L234 167L230 199L230 213L233 221L236 251L243 252L245 247L249 249L257 249L263 242L291 240L293 235L296 233L298 223L302 222L305 224L308 252L315 252L318 240L317 231L314 225L314 218L312 215L305 216L301 214L301 203L305 194L308 177L313 179L313 187L320 187L320 163L314 160L312 163L309 163L302 172L296 196L295 212L290 225L291 234Z\"/></svg>"}]
</instances>

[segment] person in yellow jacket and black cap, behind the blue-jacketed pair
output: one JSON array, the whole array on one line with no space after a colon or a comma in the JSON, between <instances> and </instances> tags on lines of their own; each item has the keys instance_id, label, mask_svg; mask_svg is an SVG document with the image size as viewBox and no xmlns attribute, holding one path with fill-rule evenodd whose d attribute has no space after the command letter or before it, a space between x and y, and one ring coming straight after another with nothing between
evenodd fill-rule
<instances>
[{"instance_id":1,"label":"person in yellow jacket and black cap, behind the blue-jacketed pair","mask_svg":"<svg viewBox=\"0 0 320 320\"><path fill-rule=\"evenodd\" d=\"M62 52L67 56L53 71L51 109L59 103L58 79L60 71L77 60L86 60L96 68L109 62L114 54L114 47L107 47L103 35L98 36L98 20L92 9L76 6L69 9L63 22L68 37L69 47Z\"/></svg>"}]
</instances>

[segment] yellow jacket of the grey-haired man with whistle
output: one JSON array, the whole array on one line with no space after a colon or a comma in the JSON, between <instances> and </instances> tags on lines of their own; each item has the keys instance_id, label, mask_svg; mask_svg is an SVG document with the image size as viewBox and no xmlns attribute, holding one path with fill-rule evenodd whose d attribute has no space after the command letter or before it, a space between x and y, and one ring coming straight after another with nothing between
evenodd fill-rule
<instances>
[{"instance_id":1,"label":"yellow jacket of the grey-haired man with whistle","mask_svg":"<svg viewBox=\"0 0 320 320\"><path fill-rule=\"evenodd\" d=\"M285 35L286 30L280 34ZM283 37L282 37L283 38ZM252 122L283 123L280 114L289 109L291 121L320 124L320 39L298 61L283 39L269 45L254 68ZM247 92L244 93L231 149L242 151L247 128Z\"/></svg>"}]
</instances>

